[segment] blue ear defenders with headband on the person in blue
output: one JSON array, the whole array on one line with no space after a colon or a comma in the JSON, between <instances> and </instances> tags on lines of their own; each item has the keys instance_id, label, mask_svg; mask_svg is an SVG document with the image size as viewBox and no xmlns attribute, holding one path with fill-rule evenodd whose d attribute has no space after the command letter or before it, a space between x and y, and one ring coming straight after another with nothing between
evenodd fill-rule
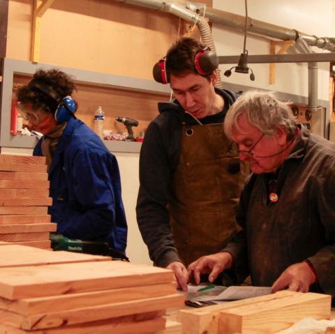
<instances>
[{"instance_id":1,"label":"blue ear defenders with headband on the person in blue","mask_svg":"<svg viewBox=\"0 0 335 334\"><path fill-rule=\"evenodd\" d=\"M38 82L36 80L32 80L28 85L30 88L36 88L39 91L42 91L47 96L50 96L52 100L55 100L58 103L56 112L54 112L54 119L56 119L59 123L67 122L71 117L75 117L75 111L77 109L75 100L71 98L71 96L66 96L65 98L59 98L57 93L55 93L51 87L43 84L42 82Z\"/></svg>"}]
</instances>

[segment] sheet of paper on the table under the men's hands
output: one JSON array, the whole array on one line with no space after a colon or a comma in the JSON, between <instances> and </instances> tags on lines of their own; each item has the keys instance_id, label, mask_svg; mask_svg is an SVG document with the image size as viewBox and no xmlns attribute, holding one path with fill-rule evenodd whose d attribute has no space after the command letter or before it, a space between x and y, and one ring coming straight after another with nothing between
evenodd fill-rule
<instances>
[{"instance_id":1,"label":"sheet of paper on the table under the men's hands","mask_svg":"<svg viewBox=\"0 0 335 334\"><path fill-rule=\"evenodd\" d=\"M188 285L186 301L237 301L251 297L271 294L271 287L221 287L216 285L212 289L199 291L204 285Z\"/></svg>"}]
</instances>

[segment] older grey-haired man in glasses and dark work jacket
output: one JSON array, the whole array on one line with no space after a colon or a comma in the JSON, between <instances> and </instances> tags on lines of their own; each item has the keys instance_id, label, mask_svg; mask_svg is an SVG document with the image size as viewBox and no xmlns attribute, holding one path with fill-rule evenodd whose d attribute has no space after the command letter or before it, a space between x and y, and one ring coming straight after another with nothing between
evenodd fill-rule
<instances>
[{"instance_id":1,"label":"older grey-haired man in glasses and dark work jacket","mask_svg":"<svg viewBox=\"0 0 335 334\"><path fill-rule=\"evenodd\" d=\"M188 266L195 282L225 269L273 291L335 296L335 145L295 124L274 93L248 91L230 107L225 133L253 172L241 192L242 231L222 252Z\"/></svg>"}]
</instances>

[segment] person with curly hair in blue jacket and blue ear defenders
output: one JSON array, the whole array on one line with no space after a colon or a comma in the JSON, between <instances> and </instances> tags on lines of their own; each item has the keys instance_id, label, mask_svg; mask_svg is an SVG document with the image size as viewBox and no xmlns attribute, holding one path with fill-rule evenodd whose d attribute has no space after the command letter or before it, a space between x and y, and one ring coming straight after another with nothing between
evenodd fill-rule
<instances>
[{"instance_id":1,"label":"person with curly hair in blue jacket and blue ear defenders","mask_svg":"<svg viewBox=\"0 0 335 334\"><path fill-rule=\"evenodd\" d=\"M57 233L83 241L103 241L125 255L127 223L117 159L101 139L76 119L70 97L75 84L57 69L38 70L17 91L22 116L43 133L34 155L44 155Z\"/></svg>"}]
</instances>

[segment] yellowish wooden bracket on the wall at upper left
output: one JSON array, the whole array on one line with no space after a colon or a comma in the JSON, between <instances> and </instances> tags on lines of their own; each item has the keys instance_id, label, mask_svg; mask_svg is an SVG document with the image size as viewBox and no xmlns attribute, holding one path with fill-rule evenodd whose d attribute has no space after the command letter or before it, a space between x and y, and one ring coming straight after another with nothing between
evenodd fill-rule
<instances>
[{"instance_id":1,"label":"yellowish wooden bracket on the wall at upper left","mask_svg":"<svg viewBox=\"0 0 335 334\"><path fill-rule=\"evenodd\" d=\"M40 20L54 0L34 0L33 22L31 24L31 61L40 60Z\"/></svg>"}]
</instances>

